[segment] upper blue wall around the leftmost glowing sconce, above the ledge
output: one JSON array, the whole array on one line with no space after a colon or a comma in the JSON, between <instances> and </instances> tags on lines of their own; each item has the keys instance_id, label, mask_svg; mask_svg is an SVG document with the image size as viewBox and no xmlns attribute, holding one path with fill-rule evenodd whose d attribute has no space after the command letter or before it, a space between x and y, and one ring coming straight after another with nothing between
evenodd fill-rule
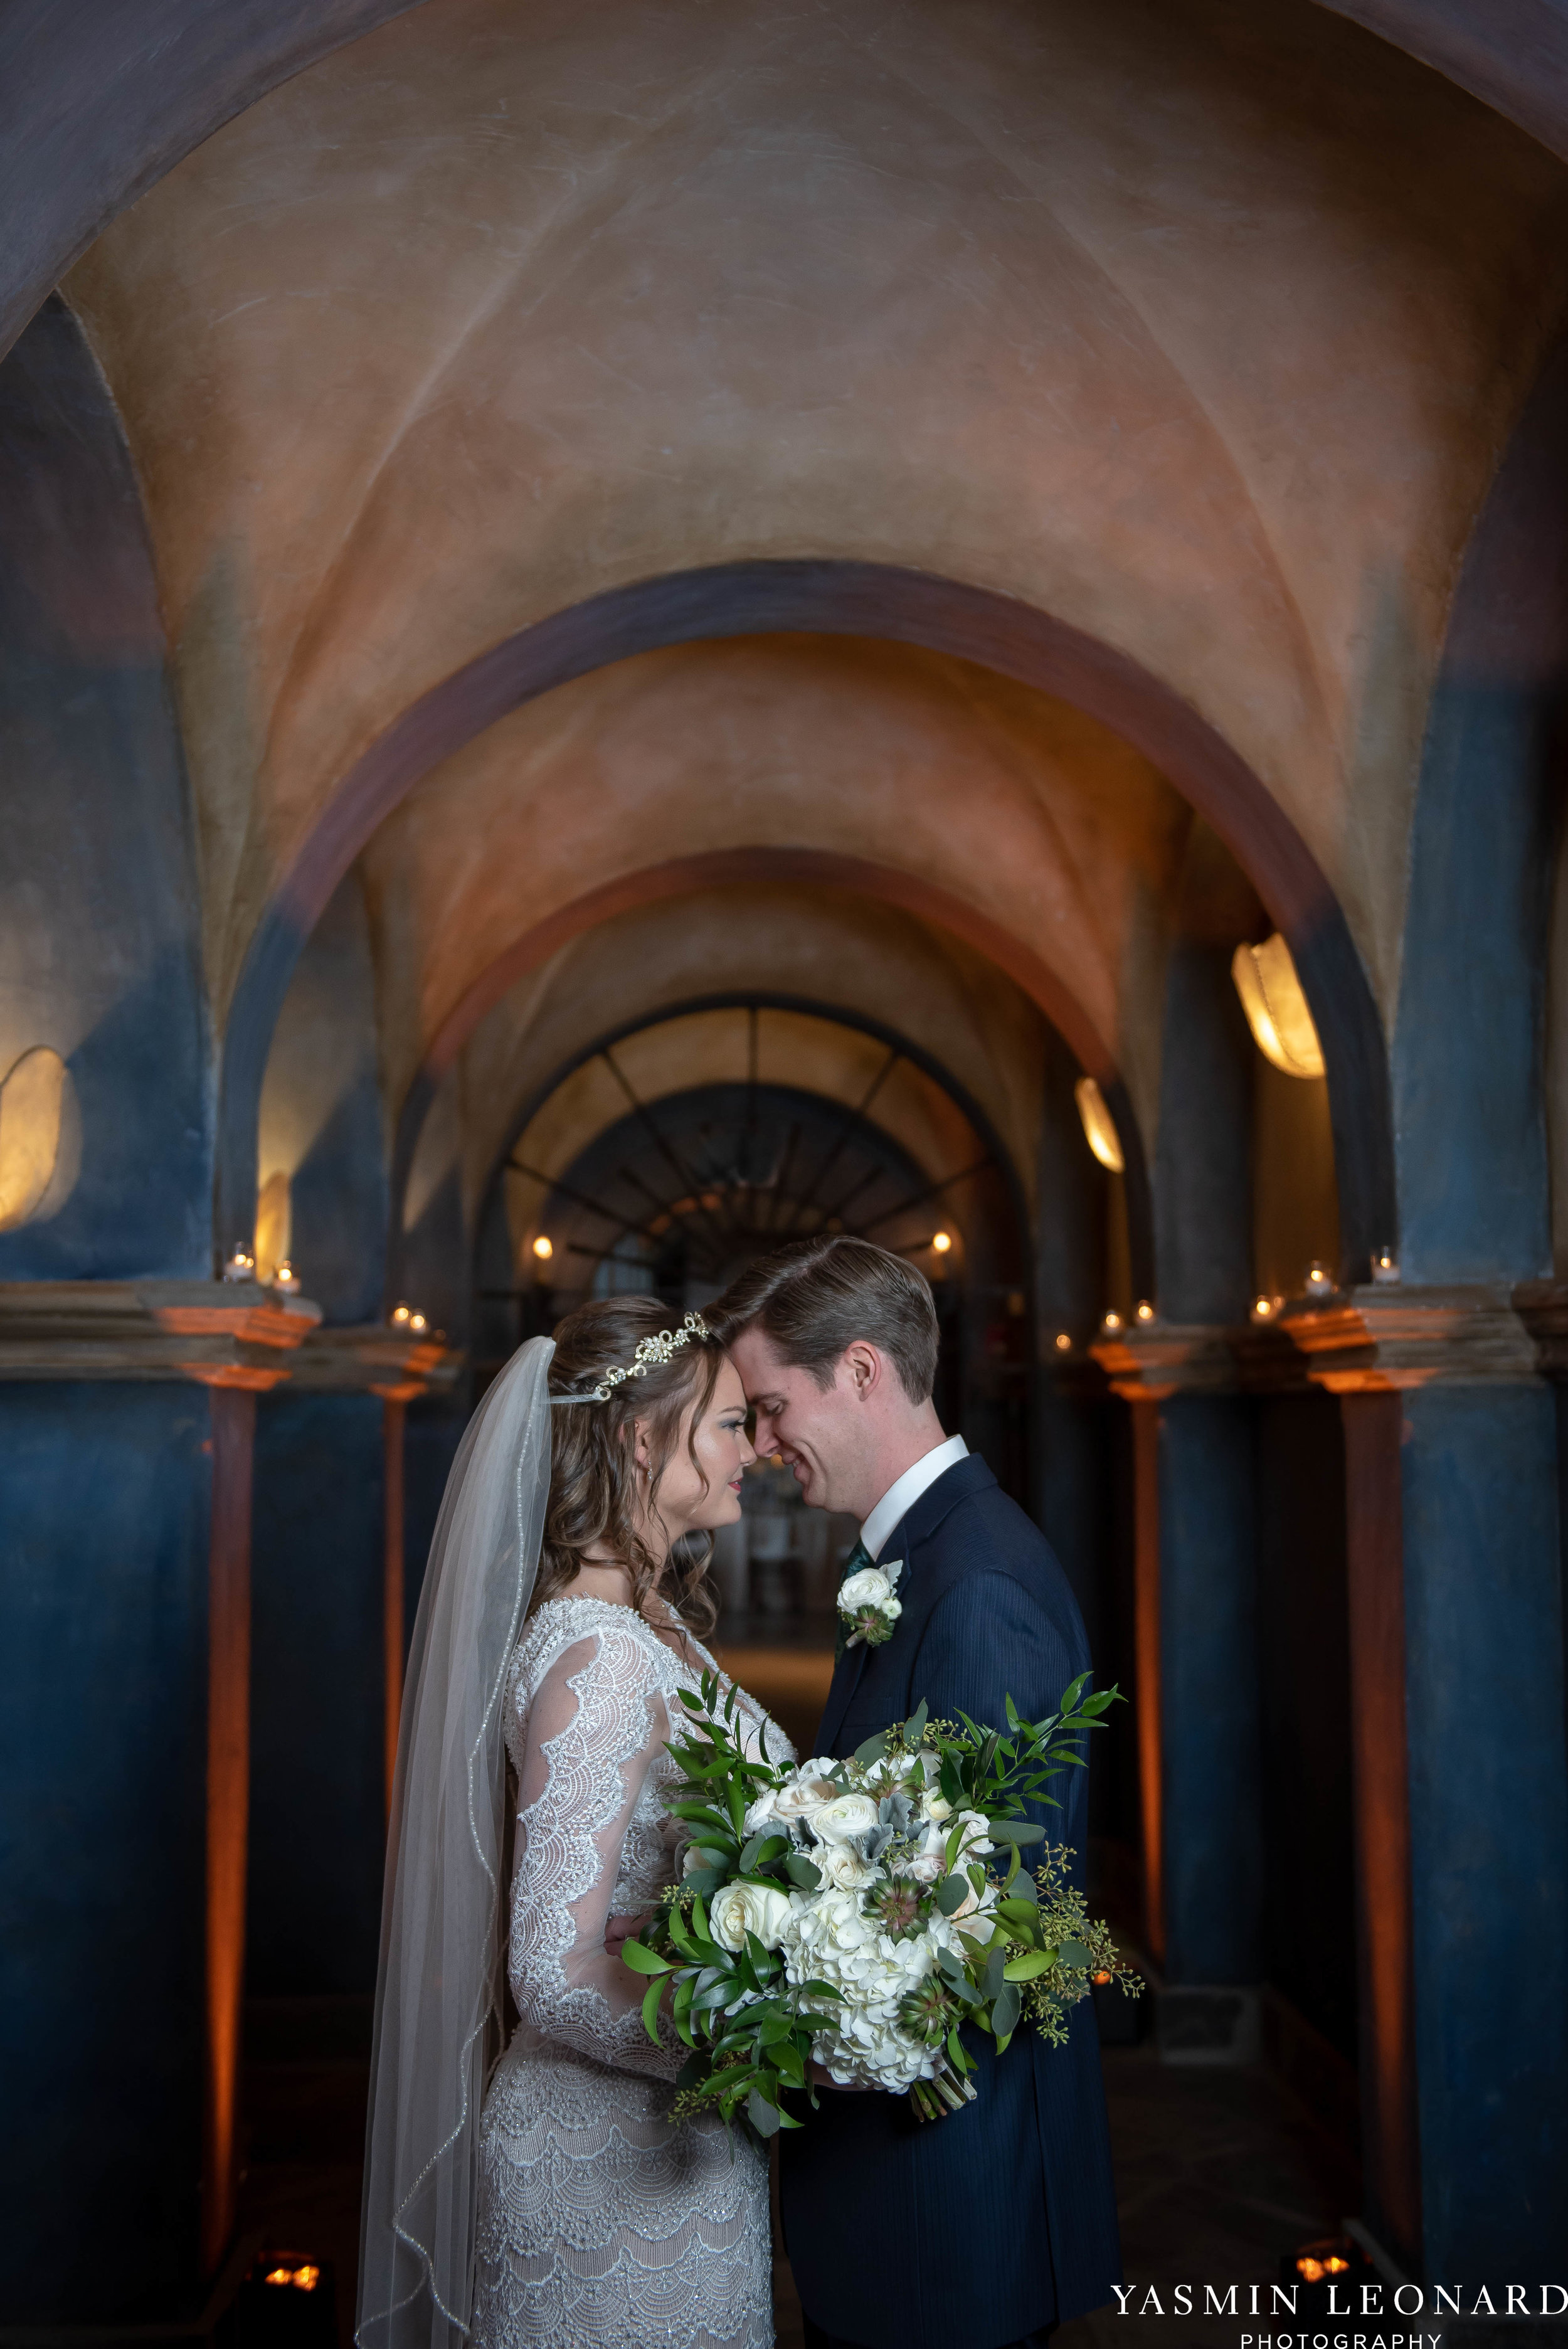
<instances>
[{"instance_id":1,"label":"upper blue wall around the leftmost glowing sconce, above the ledge","mask_svg":"<svg viewBox=\"0 0 1568 2349\"><path fill-rule=\"evenodd\" d=\"M0 1076L70 1066L80 1174L0 1280L211 1273L192 827L141 500L75 319L0 364Z\"/></svg>"}]
</instances>

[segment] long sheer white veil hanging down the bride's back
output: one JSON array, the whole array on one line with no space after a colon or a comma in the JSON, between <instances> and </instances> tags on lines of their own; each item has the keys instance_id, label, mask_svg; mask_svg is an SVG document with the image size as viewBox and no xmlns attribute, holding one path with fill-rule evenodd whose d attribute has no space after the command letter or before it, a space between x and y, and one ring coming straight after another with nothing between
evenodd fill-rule
<instances>
[{"instance_id":1,"label":"long sheer white veil hanging down the bride's back","mask_svg":"<svg viewBox=\"0 0 1568 2349\"><path fill-rule=\"evenodd\" d=\"M413 1626L380 1912L361 2349L467 2340L479 2102L502 2022L502 1682L545 1534L552 1355L552 1339L530 1339L474 1414Z\"/></svg>"}]
</instances>

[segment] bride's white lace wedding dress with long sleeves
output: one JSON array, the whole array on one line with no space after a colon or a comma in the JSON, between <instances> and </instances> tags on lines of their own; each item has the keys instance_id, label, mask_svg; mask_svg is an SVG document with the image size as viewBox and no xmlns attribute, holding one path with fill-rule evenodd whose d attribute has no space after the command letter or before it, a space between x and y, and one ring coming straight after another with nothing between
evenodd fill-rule
<instances>
[{"instance_id":1,"label":"bride's white lace wedding dress with long sleeves","mask_svg":"<svg viewBox=\"0 0 1568 2349\"><path fill-rule=\"evenodd\" d=\"M643 1616L594 1597L540 1607L507 1665L519 2025L479 2121L474 2349L772 2344L768 2161L716 2119L671 2128L685 2048L667 2022L648 2039L646 1983L603 1945L674 1877L664 1741L695 1680ZM791 1752L737 1701L770 1757Z\"/></svg>"}]
</instances>

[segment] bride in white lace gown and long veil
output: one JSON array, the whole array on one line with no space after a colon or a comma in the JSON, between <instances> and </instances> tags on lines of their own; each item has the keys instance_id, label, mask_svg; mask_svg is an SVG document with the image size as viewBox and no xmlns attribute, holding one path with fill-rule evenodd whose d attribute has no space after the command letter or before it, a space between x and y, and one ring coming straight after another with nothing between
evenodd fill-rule
<instances>
[{"instance_id":1,"label":"bride in white lace gown and long veil","mask_svg":"<svg viewBox=\"0 0 1568 2349\"><path fill-rule=\"evenodd\" d=\"M669 2123L685 2048L617 1957L678 1872L664 1741L716 1670L744 1421L695 1313L617 1297L523 1346L462 1440L404 1696L361 2349L772 2342L765 2156Z\"/></svg>"}]
</instances>

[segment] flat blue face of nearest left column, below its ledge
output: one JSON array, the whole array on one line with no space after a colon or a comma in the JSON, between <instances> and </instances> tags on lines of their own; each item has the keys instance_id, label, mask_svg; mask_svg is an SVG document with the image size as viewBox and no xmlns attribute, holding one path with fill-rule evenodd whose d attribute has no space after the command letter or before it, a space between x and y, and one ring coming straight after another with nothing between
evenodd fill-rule
<instances>
[{"instance_id":1,"label":"flat blue face of nearest left column, below its ledge","mask_svg":"<svg viewBox=\"0 0 1568 2349\"><path fill-rule=\"evenodd\" d=\"M195 2271L209 1501L202 1388L0 1388L9 2323Z\"/></svg>"}]
</instances>

